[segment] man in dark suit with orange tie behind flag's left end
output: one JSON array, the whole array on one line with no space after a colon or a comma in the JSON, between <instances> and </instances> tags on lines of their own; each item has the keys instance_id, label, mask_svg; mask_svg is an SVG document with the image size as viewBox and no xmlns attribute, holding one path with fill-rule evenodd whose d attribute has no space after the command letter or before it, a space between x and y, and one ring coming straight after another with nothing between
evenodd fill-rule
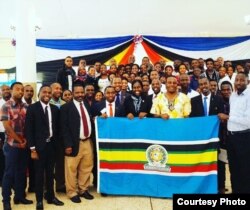
<instances>
[{"instance_id":1,"label":"man in dark suit with orange tie behind flag's left end","mask_svg":"<svg viewBox=\"0 0 250 210\"><path fill-rule=\"evenodd\" d=\"M113 86L106 87L104 91L106 100L96 103L93 108L94 116L107 117L125 117L125 110L123 105L117 105L115 102L116 92Z\"/></svg>"}]
</instances>

